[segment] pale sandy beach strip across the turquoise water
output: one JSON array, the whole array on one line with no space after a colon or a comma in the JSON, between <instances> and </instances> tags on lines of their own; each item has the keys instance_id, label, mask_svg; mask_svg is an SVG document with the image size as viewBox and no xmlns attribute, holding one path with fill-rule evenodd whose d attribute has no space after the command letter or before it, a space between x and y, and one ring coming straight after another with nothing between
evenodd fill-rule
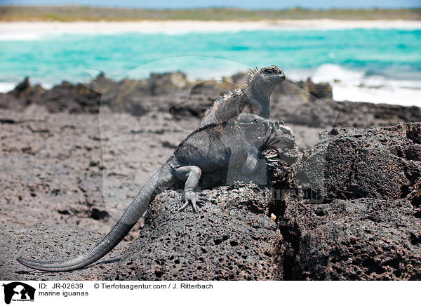
<instances>
[{"instance_id":1,"label":"pale sandy beach strip across the turquoise water","mask_svg":"<svg viewBox=\"0 0 421 306\"><path fill-rule=\"evenodd\" d=\"M416 20L267 20L267 21L138 21L138 22L0 22L0 36L11 34L86 33L108 34L118 32L180 33L218 32L253 29L421 29Z\"/></svg>"}]
</instances>

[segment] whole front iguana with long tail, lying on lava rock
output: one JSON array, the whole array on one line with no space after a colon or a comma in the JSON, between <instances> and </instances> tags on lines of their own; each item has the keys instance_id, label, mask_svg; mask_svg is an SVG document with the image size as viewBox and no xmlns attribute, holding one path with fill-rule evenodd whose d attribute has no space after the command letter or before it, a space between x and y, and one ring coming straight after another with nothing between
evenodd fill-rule
<instances>
[{"instance_id":1,"label":"whole front iguana with long tail, lying on lava rock","mask_svg":"<svg viewBox=\"0 0 421 306\"><path fill-rule=\"evenodd\" d=\"M71 260L43 262L18 258L22 265L36 270L62 272L76 270L99 260L128 234L157 194L174 182L185 182L185 204L197 211L206 198L197 197L196 187L202 171L242 166L244 174L254 173L262 163L259 157L268 147L293 145L294 134L279 121L255 114L241 114L236 122L210 124L198 128L183 140L158 172L150 178L112 230L90 251Z\"/></svg>"}]
</instances>

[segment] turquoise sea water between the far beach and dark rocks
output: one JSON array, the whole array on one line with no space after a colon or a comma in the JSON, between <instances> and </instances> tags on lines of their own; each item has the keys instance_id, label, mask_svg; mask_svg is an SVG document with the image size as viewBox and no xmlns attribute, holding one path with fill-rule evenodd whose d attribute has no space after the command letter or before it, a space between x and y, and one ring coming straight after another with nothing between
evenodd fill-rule
<instances>
[{"instance_id":1,"label":"turquoise sea water between the far beach and dark rocks","mask_svg":"<svg viewBox=\"0 0 421 306\"><path fill-rule=\"evenodd\" d=\"M100 71L116 79L139 79L181 70L191 79L210 79L275 64L287 77L330 81L342 86L342 93L351 94L351 87L421 89L420 29L0 34L0 47L1 84L29 76L51 86L88 80Z\"/></svg>"}]
</instances>

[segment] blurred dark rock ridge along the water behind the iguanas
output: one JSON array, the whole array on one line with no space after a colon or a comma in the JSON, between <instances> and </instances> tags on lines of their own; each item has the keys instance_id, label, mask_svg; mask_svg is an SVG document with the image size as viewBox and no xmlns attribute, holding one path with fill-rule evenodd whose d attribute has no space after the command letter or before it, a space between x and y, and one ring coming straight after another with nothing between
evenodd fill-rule
<instances>
[{"instance_id":1,"label":"blurred dark rock ridge along the water behind the iguanas","mask_svg":"<svg viewBox=\"0 0 421 306\"><path fill-rule=\"evenodd\" d=\"M151 74L148 79L107 79L99 74L88 84L63 82L51 90L31 86L25 78L9 93L0 93L0 108L25 109L28 105L43 105L50 112L98 112L108 107L113 112L143 116L149 112L170 112L173 119L185 127L186 119L196 124L212 102L223 93L244 87L246 74L235 74L223 81L191 82L182 72ZM350 126L388 126L401 121L421 121L419 107L373 104L367 102L338 102L332 99L327 83L284 81L271 96L271 118L286 124L312 128ZM188 128L191 128L189 126Z\"/></svg>"}]
</instances>

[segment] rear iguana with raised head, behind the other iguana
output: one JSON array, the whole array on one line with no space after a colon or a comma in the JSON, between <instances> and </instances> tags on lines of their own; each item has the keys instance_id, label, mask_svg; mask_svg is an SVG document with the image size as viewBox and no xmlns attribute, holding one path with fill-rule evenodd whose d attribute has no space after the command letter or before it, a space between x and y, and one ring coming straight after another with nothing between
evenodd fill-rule
<instances>
[{"instance_id":1,"label":"rear iguana with raised head, behind the other iguana","mask_svg":"<svg viewBox=\"0 0 421 306\"><path fill-rule=\"evenodd\" d=\"M249 72L247 87L235 89L213 103L201 120L200 126L227 122L241 113L269 118L269 100L274 88L285 80L282 69L272 65Z\"/></svg>"}]
</instances>

